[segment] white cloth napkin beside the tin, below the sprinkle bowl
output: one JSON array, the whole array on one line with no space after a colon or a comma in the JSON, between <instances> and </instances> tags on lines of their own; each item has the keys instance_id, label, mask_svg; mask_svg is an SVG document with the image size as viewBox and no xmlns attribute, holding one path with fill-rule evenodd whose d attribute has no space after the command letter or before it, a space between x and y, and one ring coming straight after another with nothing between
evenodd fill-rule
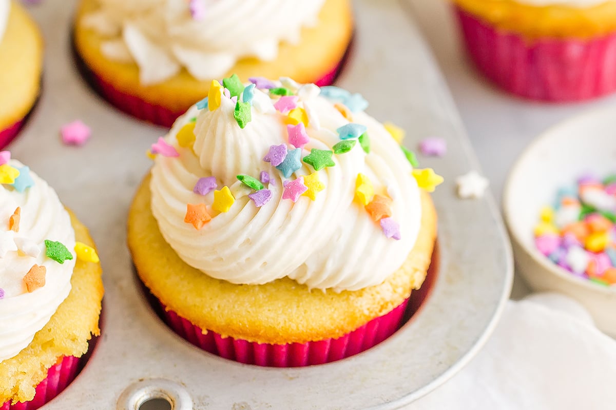
<instances>
[{"instance_id":1,"label":"white cloth napkin beside the tin, below the sprinkle bowl","mask_svg":"<svg viewBox=\"0 0 616 410\"><path fill-rule=\"evenodd\" d=\"M408 409L616 409L616 341L566 296L509 301L477 357Z\"/></svg>"}]
</instances>

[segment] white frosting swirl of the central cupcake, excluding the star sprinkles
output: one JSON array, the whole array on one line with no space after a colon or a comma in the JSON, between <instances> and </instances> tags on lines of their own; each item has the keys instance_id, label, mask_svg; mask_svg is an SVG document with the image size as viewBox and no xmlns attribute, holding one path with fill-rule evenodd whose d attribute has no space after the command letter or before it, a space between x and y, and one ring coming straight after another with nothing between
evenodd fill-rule
<instances>
[{"instance_id":1,"label":"white frosting swirl of the central cupcake, excluding the star sprinkles","mask_svg":"<svg viewBox=\"0 0 616 410\"><path fill-rule=\"evenodd\" d=\"M259 90L256 94L256 100L266 97ZM324 97L300 100L302 104L320 122L318 129L306 128L310 141L302 157L312 148L331 149L340 141L336 129L349 121ZM399 145L381 124L355 113L354 123L368 128L370 154L357 144L350 152L334 155L336 165L318 171L325 189L316 200L302 196L294 203L282 199L282 173L262 160L270 145L288 143L284 116L253 108L251 122L241 129L233 119L233 106L222 97L215 111L190 109L166 137L180 156L157 156L152 168L152 212L164 239L182 260L232 283L262 284L288 276L309 288L335 291L377 285L402 266L419 232L419 188ZM180 148L175 135L197 115L193 152ZM272 191L270 202L257 208L246 196L253 191L235 176L258 177L262 170L274 184L266 186ZM312 172L302 163L289 179ZM376 193L392 197L392 218L400 224L401 240L387 239L354 202L358 173L371 179ZM197 230L184 223L184 216L187 203L213 203L212 192L205 197L193 193L198 179L206 176L216 177L219 189L230 186L235 203L227 213L213 213L216 216Z\"/></svg>"}]
</instances>

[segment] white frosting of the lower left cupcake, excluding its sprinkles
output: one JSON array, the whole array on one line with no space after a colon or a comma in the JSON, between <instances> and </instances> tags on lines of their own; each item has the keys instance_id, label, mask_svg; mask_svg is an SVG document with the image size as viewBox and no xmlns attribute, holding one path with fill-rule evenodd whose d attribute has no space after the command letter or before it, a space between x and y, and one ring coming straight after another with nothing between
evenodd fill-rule
<instances>
[{"instance_id":1,"label":"white frosting of the lower left cupcake, excluding its sprinkles","mask_svg":"<svg viewBox=\"0 0 616 410\"><path fill-rule=\"evenodd\" d=\"M23 167L11 160L10 165ZM9 185L0 186L0 229L5 234L9 218L21 207L19 231L15 238L25 238L40 249L34 258L18 251L9 251L0 258L0 361L14 357L32 341L71 290L71 275L75 267L75 231L70 216L57 194L43 179L30 172L34 186L17 192ZM45 240L62 242L73 254L63 264L45 256ZM20 242L20 241L17 241ZM45 285L28 293L23 277L34 265L47 269Z\"/></svg>"}]
</instances>

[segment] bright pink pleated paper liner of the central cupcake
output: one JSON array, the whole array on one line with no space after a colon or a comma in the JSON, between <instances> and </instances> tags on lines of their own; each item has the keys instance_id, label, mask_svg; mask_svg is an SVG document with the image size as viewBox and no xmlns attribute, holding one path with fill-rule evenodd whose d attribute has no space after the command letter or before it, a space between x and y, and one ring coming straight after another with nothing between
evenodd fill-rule
<instances>
[{"instance_id":1,"label":"bright pink pleated paper liner of the central cupcake","mask_svg":"<svg viewBox=\"0 0 616 410\"><path fill-rule=\"evenodd\" d=\"M229 360L258 366L300 367L322 365L368 350L400 328L408 299L389 313L337 339L291 344L260 344L207 331L163 307L163 318L179 336L206 352Z\"/></svg>"}]
</instances>

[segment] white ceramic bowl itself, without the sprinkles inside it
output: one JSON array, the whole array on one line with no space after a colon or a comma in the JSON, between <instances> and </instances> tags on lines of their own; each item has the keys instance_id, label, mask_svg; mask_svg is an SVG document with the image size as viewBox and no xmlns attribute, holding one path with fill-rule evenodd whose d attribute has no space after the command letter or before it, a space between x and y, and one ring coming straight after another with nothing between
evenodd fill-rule
<instances>
[{"instance_id":1,"label":"white ceramic bowl itself, without the sprinkles inside it","mask_svg":"<svg viewBox=\"0 0 616 410\"><path fill-rule=\"evenodd\" d=\"M559 187L584 173L616 172L616 107L586 112L540 135L509 173L503 208L516 271L535 291L557 291L577 299L602 331L616 336L616 286L590 282L543 256L533 237L541 207L554 202Z\"/></svg>"}]
</instances>

